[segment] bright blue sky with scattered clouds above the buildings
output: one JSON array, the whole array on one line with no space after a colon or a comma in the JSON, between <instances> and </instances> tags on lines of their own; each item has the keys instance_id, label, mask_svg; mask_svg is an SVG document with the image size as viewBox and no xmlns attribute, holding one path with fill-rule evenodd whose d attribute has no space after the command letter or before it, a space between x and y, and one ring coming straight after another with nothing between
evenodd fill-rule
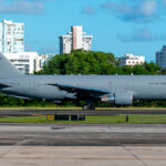
<instances>
[{"instance_id":1,"label":"bright blue sky with scattered clouds above the buildings","mask_svg":"<svg viewBox=\"0 0 166 166\"><path fill-rule=\"evenodd\" d=\"M145 55L166 44L166 0L0 0L0 20L25 24L25 51L59 53L71 25L93 35L92 50Z\"/></svg>"}]
</instances>

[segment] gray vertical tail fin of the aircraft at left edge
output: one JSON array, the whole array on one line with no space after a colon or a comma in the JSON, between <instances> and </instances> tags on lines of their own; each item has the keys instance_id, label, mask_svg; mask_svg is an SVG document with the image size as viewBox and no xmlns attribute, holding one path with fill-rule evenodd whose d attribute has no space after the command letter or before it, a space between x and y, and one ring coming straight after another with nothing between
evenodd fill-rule
<instances>
[{"instance_id":1,"label":"gray vertical tail fin of the aircraft at left edge","mask_svg":"<svg viewBox=\"0 0 166 166\"><path fill-rule=\"evenodd\" d=\"M0 53L0 79L21 75L22 73L2 53Z\"/></svg>"}]
</instances>

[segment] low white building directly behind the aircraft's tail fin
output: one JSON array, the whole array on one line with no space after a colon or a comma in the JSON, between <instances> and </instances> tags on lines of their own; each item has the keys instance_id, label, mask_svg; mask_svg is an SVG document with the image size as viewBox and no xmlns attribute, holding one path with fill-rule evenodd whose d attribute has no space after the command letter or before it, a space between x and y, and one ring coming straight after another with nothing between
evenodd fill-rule
<instances>
[{"instance_id":1,"label":"low white building directly behind the aircraft's tail fin","mask_svg":"<svg viewBox=\"0 0 166 166\"><path fill-rule=\"evenodd\" d=\"M39 56L37 52L4 53L4 55L22 73L33 74L35 71L35 59Z\"/></svg>"}]
</instances>

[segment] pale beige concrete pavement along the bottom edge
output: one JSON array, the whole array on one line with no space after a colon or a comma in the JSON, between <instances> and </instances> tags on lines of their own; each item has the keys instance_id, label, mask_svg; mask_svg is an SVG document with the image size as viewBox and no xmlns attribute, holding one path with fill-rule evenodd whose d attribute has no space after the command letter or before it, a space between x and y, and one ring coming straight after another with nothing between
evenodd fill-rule
<instances>
[{"instance_id":1,"label":"pale beige concrete pavement along the bottom edge","mask_svg":"<svg viewBox=\"0 0 166 166\"><path fill-rule=\"evenodd\" d=\"M165 166L160 146L2 146L0 166Z\"/></svg>"}]
</instances>

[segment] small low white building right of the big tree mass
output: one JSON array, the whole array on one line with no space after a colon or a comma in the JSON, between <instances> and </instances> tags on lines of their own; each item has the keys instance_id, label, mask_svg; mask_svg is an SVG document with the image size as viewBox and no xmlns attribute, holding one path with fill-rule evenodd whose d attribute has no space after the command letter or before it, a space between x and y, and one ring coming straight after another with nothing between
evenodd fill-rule
<instances>
[{"instance_id":1,"label":"small low white building right of the big tree mass","mask_svg":"<svg viewBox=\"0 0 166 166\"><path fill-rule=\"evenodd\" d=\"M145 63L145 56L139 56L139 55L133 55L126 53L125 56L121 59L121 66L123 65L142 65Z\"/></svg>"}]
</instances>

